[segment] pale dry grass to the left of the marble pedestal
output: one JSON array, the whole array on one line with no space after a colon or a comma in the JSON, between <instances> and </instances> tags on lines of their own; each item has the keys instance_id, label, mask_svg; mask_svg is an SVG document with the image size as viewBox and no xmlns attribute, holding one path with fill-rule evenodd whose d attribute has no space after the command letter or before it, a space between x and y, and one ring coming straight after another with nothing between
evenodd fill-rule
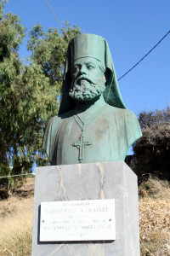
<instances>
[{"instance_id":1,"label":"pale dry grass to the left of the marble pedestal","mask_svg":"<svg viewBox=\"0 0 170 256\"><path fill-rule=\"evenodd\" d=\"M30 185L29 181L23 189L25 198L14 196L0 201L0 256L31 255L33 195L28 196L27 190Z\"/></svg>"}]
</instances>

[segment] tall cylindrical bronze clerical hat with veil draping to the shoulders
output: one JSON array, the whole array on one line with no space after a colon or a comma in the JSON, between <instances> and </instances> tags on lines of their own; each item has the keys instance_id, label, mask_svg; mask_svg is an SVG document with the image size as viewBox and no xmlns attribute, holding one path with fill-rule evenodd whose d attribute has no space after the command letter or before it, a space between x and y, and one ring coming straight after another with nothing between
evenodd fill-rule
<instances>
[{"instance_id":1,"label":"tall cylindrical bronze clerical hat with veil draping to the shoulders","mask_svg":"<svg viewBox=\"0 0 170 256\"><path fill-rule=\"evenodd\" d=\"M83 57L94 58L105 67L106 83L103 93L105 102L116 108L126 108L118 87L111 51L105 38L94 34L80 34L73 38L68 46L59 114L74 108L75 102L69 96L71 65L74 61Z\"/></svg>"}]
</instances>

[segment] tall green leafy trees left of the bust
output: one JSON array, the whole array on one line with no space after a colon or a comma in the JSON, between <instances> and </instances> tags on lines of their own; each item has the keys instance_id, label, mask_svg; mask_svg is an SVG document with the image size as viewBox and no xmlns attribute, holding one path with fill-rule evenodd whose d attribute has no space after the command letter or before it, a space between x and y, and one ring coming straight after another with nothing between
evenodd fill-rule
<instances>
[{"instance_id":1,"label":"tall green leafy trees left of the bust","mask_svg":"<svg viewBox=\"0 0 170 256\"><path fill-rule=\"evenodd\" d=\"M78 27L57 29L34 26L30 32L29 62L20 60L18 50L26 27L18 15L3 15L0 0L0 172L5 176L31 172L35 160L47 164L42 153L43 127L57 114L68 39ZM10 168L12 166L12 168ZM15 181L15 179L12 179ZM10 192L11 180L7 183Z\"/></svg>"}]
</instances>

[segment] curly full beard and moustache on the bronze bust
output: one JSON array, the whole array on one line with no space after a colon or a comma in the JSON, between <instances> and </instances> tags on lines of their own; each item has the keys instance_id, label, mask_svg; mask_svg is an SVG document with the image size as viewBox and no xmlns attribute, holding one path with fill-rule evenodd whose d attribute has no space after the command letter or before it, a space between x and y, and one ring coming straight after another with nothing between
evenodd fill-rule
<instances>
[{"instance_id":1,"label":"curly full beard and moustache on the bronze bust","mask_svg":"<svg viewBox=\"0 0 170 256\"><path fill-rule=\"evenodd\" d=\"M77 101L91 101L100 96L105 90L105 80L100 80L98 84L94 84L88 79L77 79L71 84L69 96Z\"/></svg>"}]
</instances>

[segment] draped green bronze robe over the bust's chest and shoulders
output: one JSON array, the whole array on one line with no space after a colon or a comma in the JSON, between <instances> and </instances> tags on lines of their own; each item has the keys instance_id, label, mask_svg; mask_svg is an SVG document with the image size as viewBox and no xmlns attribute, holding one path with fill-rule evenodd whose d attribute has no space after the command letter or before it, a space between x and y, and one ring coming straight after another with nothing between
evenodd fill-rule
<instances>
[{"instance_id":1,"label":"draped green bronze robe over the bust's chest and shoulders","mask_svg":"<svg viewBox=\"0 0 170 256\"><path fill-rule=\"evenodd\" d=\"M48 121L42 148L52 166L124 160L128 148L142 136L132 111L107 104L89 120L82 145L76 147L75 143L81 144L82 129L75 115L71 110Z\"/></svg>"}]
</instances>

